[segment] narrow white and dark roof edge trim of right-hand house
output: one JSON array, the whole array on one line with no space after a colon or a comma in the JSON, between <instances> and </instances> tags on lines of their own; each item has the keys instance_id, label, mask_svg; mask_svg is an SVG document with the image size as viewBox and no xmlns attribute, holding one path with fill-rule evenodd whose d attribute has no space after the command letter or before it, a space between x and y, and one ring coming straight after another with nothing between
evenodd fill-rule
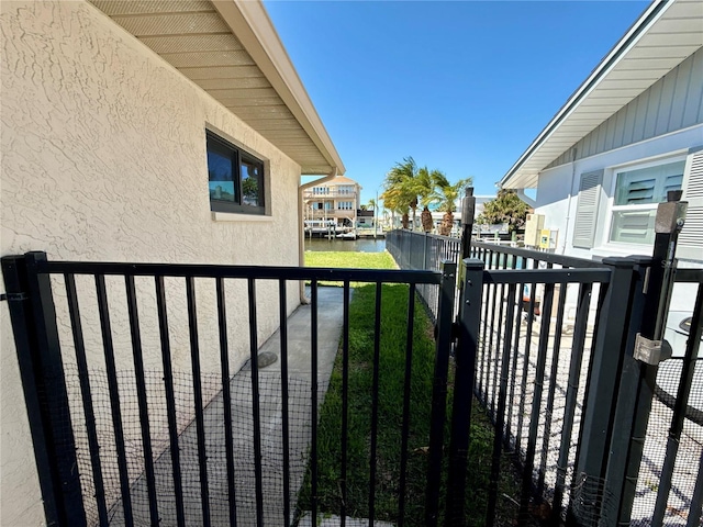
<instances>
[{"instance_id":1,"label":"narrow white and dark roof edge trim of right-hand house","mask_svg":"<svg viewBox=\"0 0 703 527\"><path fill-rule=\"evenodd\" d=\"M599 85L609 71L627 54L627 52L647 33L649 27L666 12L672 4L671 0L652 1L643 14L633 23L625 35L613 46L599 65L591 71L591 75L581 83L581 86L569 97L567 102L559 109L557 114L549 121L547 126L532 142L527 149L520 156L517 161L496 183L498 187L510 188L510 180L517 177L521 167L527 161L539 147L555 133L561 123L579 106L579 104L588 97L588 94ZM624 106L625 104L623 104ZM615 112L613 112L615 113ZM595 128L596 126L593 126ZM585 135L585 134L584 134Z\"/></svg>"}]
</instances>

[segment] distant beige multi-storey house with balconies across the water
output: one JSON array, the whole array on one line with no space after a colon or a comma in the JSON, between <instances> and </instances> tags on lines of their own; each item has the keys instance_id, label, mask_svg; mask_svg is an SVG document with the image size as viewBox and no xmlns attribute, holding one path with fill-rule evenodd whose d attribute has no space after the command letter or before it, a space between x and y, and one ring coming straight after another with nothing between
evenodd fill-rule
<instances>
[{"instance_id":1,"label":"distant beige multi-storey house with balconies across the water","mask_svg":"<svg viewBox=\"0 0 703 527\"><path fill-rule=\"evenodd\" d=\"M309 183L303 191L306 221L332 222L339 227L353 227L359 215L361 187L353 179L337 176L322 182Z\"/></svg>"}]
</instances>

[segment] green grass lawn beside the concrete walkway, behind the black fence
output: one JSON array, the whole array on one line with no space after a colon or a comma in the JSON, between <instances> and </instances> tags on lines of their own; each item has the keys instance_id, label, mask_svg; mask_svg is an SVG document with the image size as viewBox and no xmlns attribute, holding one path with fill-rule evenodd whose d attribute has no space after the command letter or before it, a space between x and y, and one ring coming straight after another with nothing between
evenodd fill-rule
<instances>
[{"instance_id":1,"label":"green grass lawn beside the concrete walkway, behind the black fence","mask_svg":"<svg viewBox=\"0 0 703 527\"><path fill-rule=\"evenodd\" d=\"M311 267L394 267L388 254L306 253ZM353 264L352 264L353 262ZM347 515L368 517L371 408L373 401L373 345L380 338L378 392L378 451L376 519L398 523L401 428L403 411L405 340L409 288L383 284L380 336L375 332L376 285L355 288L349 307L349 392L347 446ZM409 464L405 523L424 525L426 447L429 438L435 343L433 326L422 304L415 302L411 375ZM448 401L453 391L449 385ZM337 354L330 388L320 411L317 456L317 511L339 514L342 459L342 352ZM447 415L451 415L448 408ZM467 481L467 525L484 524L493 430L475 405ZM445 434L448 446L448 425ZM509 491L511 492L511 491ZM444 490L443 490L444 494ZM512 494L512 492L511 492ZM299 509L311 509L310 473L299 496Z\"/></svg>"}]
</instances>

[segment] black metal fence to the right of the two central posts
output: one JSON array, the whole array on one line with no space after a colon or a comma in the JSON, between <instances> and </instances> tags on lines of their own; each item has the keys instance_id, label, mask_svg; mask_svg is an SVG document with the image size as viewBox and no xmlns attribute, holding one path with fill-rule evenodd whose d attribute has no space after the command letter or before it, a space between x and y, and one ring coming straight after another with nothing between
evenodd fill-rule
<instances>
[{"instance_id":1,"label":"black metal fence to the right of the two central posts","mask_svg":"<svg viewBox=\"0 0 703 527\"><path fill-rule=\"evenodd\" d=\"M459 240L424 237L398 231L387 247L402 268L432 265L433 245L451 246L458 258ZM703 271L676 274L696 284L698 296L685 354L659 366L635 358L635 348L654 326L660 261L600 262L479 242L470 256L473 287L462 304L480 305L475 393L496 430L487 524L506 497L498 471L507 455L522 474L524 524L699 525Z\"/></svg>"}]
</instances>

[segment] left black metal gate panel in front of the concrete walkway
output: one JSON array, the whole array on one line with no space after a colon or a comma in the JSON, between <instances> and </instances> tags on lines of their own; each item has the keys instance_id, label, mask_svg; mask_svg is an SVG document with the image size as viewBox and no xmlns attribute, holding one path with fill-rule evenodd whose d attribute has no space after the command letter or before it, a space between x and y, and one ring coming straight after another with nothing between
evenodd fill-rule
<instances>
[{"instance_id":1,"label":"left black metal gate panel in front of the concrete walkway","mask_svg":"<svg viewBox=\"0 0 703 527\"><path fill-rule=\"evenodd\" d=\"M420 438L428 446L424 524L460 517L451 507L462 503L440 491L446 457L461 457L461 441L444 448L453 264L440 271L330 270L67 262L29 253L3 257L2 270L48 525L288 526L305 513L310 525L319 513L338 514L345 525L352 513L344 474L353 282L376 285L375 312L369 313L375 321L373 361L368 365L375 379L368 407L369 505L361 513L372 525L377 467L398 462L399 513L393 523L410 523L404 513L409 497L402 490L412 453L409 436L417 434L409 404L414 298L416 288L429 284L438 294L432 306L437 335L434 382L424 395L432 401L433 421L428 436ZM319 287L323 280L342 284L333 292L342 303L341 335L325 333L331 304L322 298L327 291ZM289 296L300 281L310 282L311 303L301 307L306 310L303 324L299 319L289 327L298 303ZM406 304L397 306L406 310L408 336L404 399L395 403L402 408L403 448L395 461L377 456L383 381L378 343L387 283L408 287ZM272 319L264 321L263 311ZM267 323L269 328L280 326L274 371L259 366ZM293 334L305 334L305 345L295 352L289 345ZM319 357L325 339L333 343L333 355L341 343L342 426L332 439L342 445L338 511L319 506L319 406L334 361L323 367ZM460 485L464 475L453 473L453 481ZM306 511L297 509L303 478L309 485Z\"/></svg>"}]
</instances>

